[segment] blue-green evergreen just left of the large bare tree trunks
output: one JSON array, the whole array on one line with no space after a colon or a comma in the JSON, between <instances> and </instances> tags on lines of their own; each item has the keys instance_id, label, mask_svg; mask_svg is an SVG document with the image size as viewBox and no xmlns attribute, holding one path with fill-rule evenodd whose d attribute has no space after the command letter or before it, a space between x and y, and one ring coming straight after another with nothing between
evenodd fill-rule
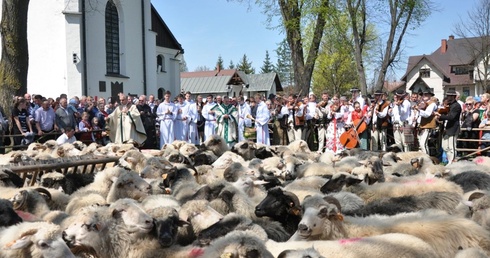
<instances>
[{"instance_id":1,"label":"blue-green evergreen just left of the large bare tree trunks","mask_svg":"<svg viewBox=\"0 0 490 258\"><path fill-rule=\"evenodd\" d=\"M284 39L278 44L276 49L277 54L277 64L275 65L275 70L281 83L287 87L293 86L294 84L294 72L291 60L291 50L289 49L288 42Z\"/></svg>"}]
</instances>

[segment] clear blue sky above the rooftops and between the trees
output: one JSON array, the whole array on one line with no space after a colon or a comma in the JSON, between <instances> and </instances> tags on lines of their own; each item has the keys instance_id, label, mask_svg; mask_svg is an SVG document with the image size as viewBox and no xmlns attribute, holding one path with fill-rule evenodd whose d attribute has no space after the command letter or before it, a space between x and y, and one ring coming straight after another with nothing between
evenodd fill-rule
<instances>
[{"instance_id":1,"label":"clear blue sky above the rooftops and between the trees","mask_svg":"<svg viewBox=\"0 0 490 258\"><path fill-rule=\"evenodd\" d=\"M250 0L252 3L255 0ZM247 2L245 0L244 2ZM404 54L397 80L405 73L408 56L431 54L442 39L455 35L454 26L466 20L479 0L433 0L438 9L405 38ZM279 29L268 29L262 7L227 0L153 0L153 5L184 48L189 71L207 66L213 69L218 57L225 68L238 63L244 54L260 71L266 50L276 63L275 50L285 38ZM277 20L273 25L277 25Z\"/></svg>"}]
</instances>

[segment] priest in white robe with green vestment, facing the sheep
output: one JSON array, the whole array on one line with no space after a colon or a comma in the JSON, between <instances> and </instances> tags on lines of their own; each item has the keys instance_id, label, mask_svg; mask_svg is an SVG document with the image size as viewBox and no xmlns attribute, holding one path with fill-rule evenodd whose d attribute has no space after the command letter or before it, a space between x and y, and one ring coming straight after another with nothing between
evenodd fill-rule
<instances>
[{"instance_id":1,"label":"priest in white robe with green vestment, facing the sheep","mask_svg":"<svg viewBox=\"0 0 490 258\"><path fill-rule=\"evenodd\" d=\"M230 104L228 96L223 96L223 103L214 106L213 111L218 125L216 134L225 140L228 147L233 147L238 142L238 110Z\"/></svg>"}]
</instances>

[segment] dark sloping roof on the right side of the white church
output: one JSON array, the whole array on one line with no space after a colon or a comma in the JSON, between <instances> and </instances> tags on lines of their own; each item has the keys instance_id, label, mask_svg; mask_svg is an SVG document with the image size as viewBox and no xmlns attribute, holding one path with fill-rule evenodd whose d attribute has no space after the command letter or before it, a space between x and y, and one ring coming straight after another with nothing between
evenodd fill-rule
<instances>
[{"instance_id":1,"label":"dark sloping roof on the right side of the white church","mask_svg":"<svg viewBox=\"0 0 490 258\"><path fill-rule=\"evenodd\" d=\"M182 54L184 53L182 45L180 45L180 43L177 41L172 31L170 31L167 24L165 24L162 17L153 5L151 5L151 30L157 33L157 46L177 49L180 50Z\"/></svg>"}]
</instances>

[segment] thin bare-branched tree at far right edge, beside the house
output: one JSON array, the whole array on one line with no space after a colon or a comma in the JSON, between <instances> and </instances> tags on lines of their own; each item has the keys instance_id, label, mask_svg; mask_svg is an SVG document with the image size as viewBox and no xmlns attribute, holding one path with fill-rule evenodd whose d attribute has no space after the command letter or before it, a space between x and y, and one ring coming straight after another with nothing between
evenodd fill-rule
<instances>
[{"instance_id":1,"label":"thin bare-branched tree at far right edge, beside the house","mask_svg":"<svg viewBox=\"0 0 490 258\"><path fill-rule=\"evenodd\" d=\"M485 91L490 92L490 0L480 0L473 10L468 11L466 21L455 25L454 33L464 39L463 46L471 53L474 63L468 67L475 71L474 80Z\"/></svg>"}]
</instances>

